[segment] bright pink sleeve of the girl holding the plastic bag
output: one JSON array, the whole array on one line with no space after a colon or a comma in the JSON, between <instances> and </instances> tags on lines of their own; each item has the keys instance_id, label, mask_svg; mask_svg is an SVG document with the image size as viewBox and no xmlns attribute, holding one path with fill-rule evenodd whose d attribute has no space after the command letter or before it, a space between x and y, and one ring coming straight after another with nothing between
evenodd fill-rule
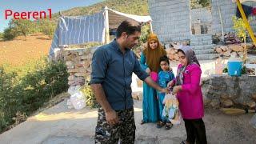
<instances>
[{"instance_id":1,"label":"bright pink sleeve of the girl holding the plastic bag","mask_svg":"<svg viewBox=\"0 0 256 144\"><path fill-rule=\"evenodd\" d=\"M200 87L200 78L202 70L199 66L193 66L190 69L190 83L183 84L182 90L188 91L190 94L194 94Z\"/></svg>"}]
</instances>

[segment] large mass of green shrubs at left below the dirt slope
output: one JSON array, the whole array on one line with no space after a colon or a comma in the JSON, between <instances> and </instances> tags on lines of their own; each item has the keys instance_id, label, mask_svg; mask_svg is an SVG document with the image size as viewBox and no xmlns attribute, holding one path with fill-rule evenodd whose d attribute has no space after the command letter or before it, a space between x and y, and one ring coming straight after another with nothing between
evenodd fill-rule
<instances>
[{"instance_id":1,"label":"large mass of green shrubs at left below the dirt slope","mask_svg":"<svg viewBox=\"0 0 256 144\"><path fill-rule=\"evenodd\" d=\"M24 66L25 72L0 68L0 132L14 123L17 115L32 114L68 89L64 62L38 62L31 67Z\"/></svg>"}]
</instances>

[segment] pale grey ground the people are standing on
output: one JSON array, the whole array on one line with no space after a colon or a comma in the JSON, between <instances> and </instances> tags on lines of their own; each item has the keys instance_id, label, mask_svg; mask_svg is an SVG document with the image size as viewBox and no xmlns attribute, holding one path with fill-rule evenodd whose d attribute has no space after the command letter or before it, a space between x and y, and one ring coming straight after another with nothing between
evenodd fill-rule
<instances>
[{"instance_id":1,"label":"pale grey ground the people are standing on","mask_svg":"<svg viewBox=\"0 0 256 144\"><path fill-rule=\"evenodd\" d=\"M186 138L184 122L171 130L157 129L155 123L140 125L142 120L142 101L134 101L136 142L142 144L172 144ZM254 144L256 129L250 125L253 114L230 116L219 110L206 109L204 122L209 143ZM97 110L68 109L66 101L50 109L31 116L26 122L0 135L2 144L42 143L42 144L90 144L94 143L94 128Z\"/></svg>"}]
</instances>

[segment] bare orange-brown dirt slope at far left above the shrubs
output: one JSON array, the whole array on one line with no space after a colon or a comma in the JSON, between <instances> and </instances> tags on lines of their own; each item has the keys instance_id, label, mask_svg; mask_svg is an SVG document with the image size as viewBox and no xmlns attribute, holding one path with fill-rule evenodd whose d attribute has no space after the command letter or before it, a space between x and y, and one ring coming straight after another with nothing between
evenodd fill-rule
<instances>
[{"instance_id":1,"label":"bare orange-brown dirt slope at far left above the shrubs","mask_svg":"<svg viewBox=\"0 0 256 144\"><path fill-rule=\"evenodd\" d=\"M43 34L19 36L12 41L0 42L0 65L22 66L28 61L46 56L50 50L51 39Z\"/></svg>"}]
</instances>

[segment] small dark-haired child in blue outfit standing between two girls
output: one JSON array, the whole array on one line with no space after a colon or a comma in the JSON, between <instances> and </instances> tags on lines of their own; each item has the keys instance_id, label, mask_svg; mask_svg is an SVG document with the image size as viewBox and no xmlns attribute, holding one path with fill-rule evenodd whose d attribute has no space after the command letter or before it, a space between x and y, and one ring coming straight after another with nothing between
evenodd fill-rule
<instances>
[{"instance_id":1,"label":"small dark-haired child in blue outfit standing between two girls","mask_svg":"<svg viewBox=\"0 0 256 144\"><path fill-rule=\"evenodd\" d=\"M172 72L172 70L170 70L169 65L169 58L167 58L166 56L162 56L160 58L160 66L162 71L158 73L159 86L167 87L167 83L174 79L174 73ZM165 93L158 92L158 113L160 116L160 121L157 123L157 127L161 128L162 126L166 125L166 130L170 130L172 126L170 120L162 116L162 110L164 108L164 105L162 103L165 95Z\"/></svg>"}]
</instances>

